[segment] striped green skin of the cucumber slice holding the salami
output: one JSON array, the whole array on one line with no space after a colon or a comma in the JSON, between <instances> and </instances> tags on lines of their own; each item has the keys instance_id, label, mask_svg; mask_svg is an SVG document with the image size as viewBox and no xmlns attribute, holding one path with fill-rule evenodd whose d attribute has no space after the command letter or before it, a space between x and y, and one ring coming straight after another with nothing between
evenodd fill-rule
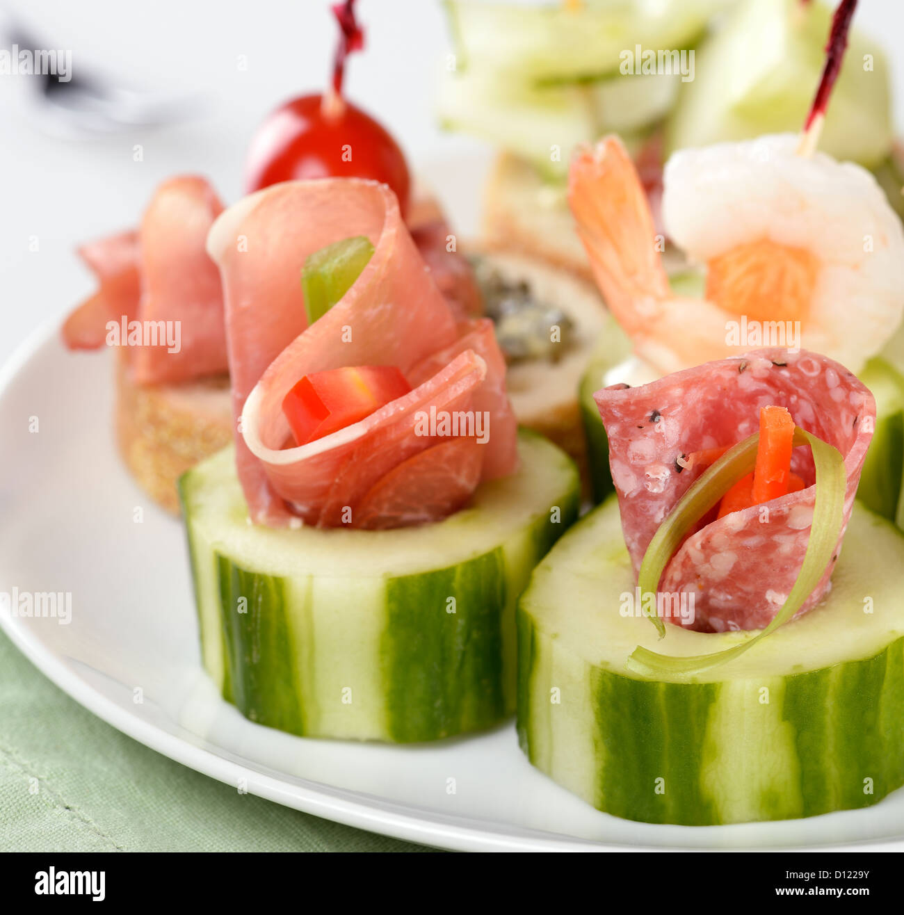
<instances>
[{"instance_id":1,"label":"striped green skin of the cucumber slice holding the salami","mask_svg":"<svg viewBox=\"0 0 904 915\"><path fill-rule=\"evenodd\" d=\"M534 766L560 780L544 746L545 706L555 685L542 673L549 640L521 609L518 637L519 743ZM781 702L780 723L794 735L791 748L774 744L771 714L763 716L761 731L752 716L739 727L749 747L770 748L769 769L784 773L781 790L761 786L752 794L743 791L745 771L714 762L715 750L707 746L725 685L648 682L600 668L588 676L592 703L578 714L605 762L581 773L587 787L578 793L604 813L689 826L785 820L866 807L904 785L904 637L842 668L798 674L785 684L764 679L744 685L751 704L763 687L780 696L773 699ZM864 696L875 701L864 702ZM619 714L611 715L612 709ZM844 764L826 766L829 751ZM663 793L655 790L658 779ZM708 789L713 779L737 781L735 803L714 802ZM865 792L865 779L873 780L872 793Z\"/></svg>"}]
</instances>

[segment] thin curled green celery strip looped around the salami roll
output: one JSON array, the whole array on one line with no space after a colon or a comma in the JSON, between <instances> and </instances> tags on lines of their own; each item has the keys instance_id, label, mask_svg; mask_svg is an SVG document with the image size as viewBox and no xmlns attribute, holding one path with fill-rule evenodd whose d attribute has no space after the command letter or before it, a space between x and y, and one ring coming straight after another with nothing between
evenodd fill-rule
<instances>
[{"instance_id":1,"label":"thin curled green celery strip looped around the salami roll","mask_svg":"<svg viewBox=\"0 0 904 915\"><path fill-rule=\"evenodd\" d=\"M684 493L668 518L656 532L640 564L638 585L640 593L656 592L662 572L668 565L678 544L681 543L694 524L709 511L731 488L737 479L753 469L757 457L759 432L719 458L712 467L694 482ZM823 576L826 565L832 559L841 534L845 513L845 461L841 452L821 438L806 432L800 426L794 429L794 445L809 445L813 450L813 464L816 468L816 499L813 505L813 522L803 556L801 571L798 573L791 594L769 625L757 635L740 642L725 651L712 654L697 654L689 657L673 657L658 654L640 645L631 653L628 667L645 676L691 677L695 673L709 670L737 658L738 655L765 639L777 630L802 607L803 602L813 593L813 588ZM665 625L658 616L651 618L656 624L660 637L665 635Z\"/></svg>"}]
</instances>

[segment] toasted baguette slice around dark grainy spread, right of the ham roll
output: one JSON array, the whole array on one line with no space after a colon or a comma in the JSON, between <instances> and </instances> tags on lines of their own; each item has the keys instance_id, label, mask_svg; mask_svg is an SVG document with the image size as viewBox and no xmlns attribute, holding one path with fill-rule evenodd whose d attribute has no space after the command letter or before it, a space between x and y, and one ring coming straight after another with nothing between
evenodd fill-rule
<instances>
[{"instance_id":1,"label":"toasted baguette slice around dark grainy spread, right of the ham roll","mask_svg":"<svg viewBox=\"0 0 904 915\"><path fill-rule=\"evenodd\" d=\"M581 466L586 447L578 387L607 322L597 288L568 271L491 243L480 246L476 253L503 279L527 283L534 298L561 308L574 322L573 342L558 361L515 362L509 366L506 386L519 423L551 438Z\"/></svg>"}]
</instances>

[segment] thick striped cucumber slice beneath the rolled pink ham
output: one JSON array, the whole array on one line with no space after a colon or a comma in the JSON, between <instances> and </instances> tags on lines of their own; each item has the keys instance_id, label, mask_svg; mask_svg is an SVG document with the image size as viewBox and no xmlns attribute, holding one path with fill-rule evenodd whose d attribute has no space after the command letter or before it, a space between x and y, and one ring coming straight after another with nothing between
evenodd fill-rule
<instances>
[{"instance_id":1,"label":"thick striped cucumber slice beneath the rolled pink ham","mask_svg":"<svg viewBox=\"0 0 904 915\"><path fill-rule=\"evenodd\" d=\"M514 607L575 520L577 470L519 434L520 468L446 521L253 526L231 448L180 481L204 667L243 715L310 737L420 741L515 704Z\"/></svg>"}]
</instances>

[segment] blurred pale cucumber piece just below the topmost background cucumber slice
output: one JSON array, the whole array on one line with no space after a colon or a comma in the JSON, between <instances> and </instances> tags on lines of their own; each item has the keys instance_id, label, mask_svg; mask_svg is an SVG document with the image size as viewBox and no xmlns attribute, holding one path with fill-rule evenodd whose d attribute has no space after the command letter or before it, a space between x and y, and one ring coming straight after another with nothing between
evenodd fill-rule
<instances>
[{"instance_id":1,"label":"blurred pale cucumber piece just below the topmost background cucumber slice","mask_svg":"<svg viewBox=\"0 0 904 915\"><path fill-rule=\"evenodd\" d=\"M545 178L568 173L580 143L618 133L631 151L672 107L678 77L615 77L532 85L473 68L441 84L437 114L448 130L477 136L533 163Z\"/></svg>"}]
</instances>

